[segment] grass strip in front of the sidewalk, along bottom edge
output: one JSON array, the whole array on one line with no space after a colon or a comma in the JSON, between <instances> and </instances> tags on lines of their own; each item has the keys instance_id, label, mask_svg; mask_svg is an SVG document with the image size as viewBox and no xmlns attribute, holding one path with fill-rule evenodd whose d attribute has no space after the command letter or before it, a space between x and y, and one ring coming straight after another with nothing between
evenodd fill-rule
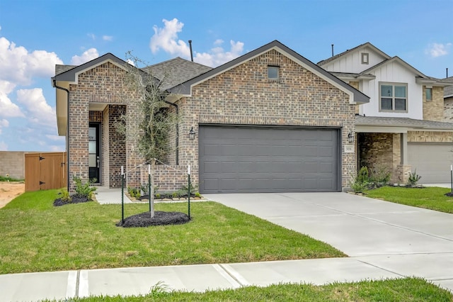
<instances>
[{"instance_id":1,"label":"grass strip in front of the sidewalk, along bottom edge","mask_svg":"<svg viewBox=\"0 0 453 302\"><path fill-rule=\"evenodd\" d=\"M248 286L222 291L164 292L154 288L146 296L79 298L77 302L94 301L453 301L452 293L419 278L333 283L324 286L309 284L277 284L268 287Z\"/></svg>"}]
</instances>

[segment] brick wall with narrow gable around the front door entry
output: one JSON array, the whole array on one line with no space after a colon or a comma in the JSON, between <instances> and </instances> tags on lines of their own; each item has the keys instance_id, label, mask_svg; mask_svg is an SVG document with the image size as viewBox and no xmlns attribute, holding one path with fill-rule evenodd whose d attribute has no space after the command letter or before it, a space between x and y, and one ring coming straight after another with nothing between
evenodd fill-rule
<instances>
[{"instance_id":1,"label":"brick wall with narrow gable around the front door entry","mask_svg":"<svg viewBox=\"0 0 453 302\"><path fill-rule=\"evenodd\" d=\"M69 173L71 177L80 177L82 181L88 181L88 107L90 103L101 103L111 105L125 105L127 116L127 131L132 133L132 129L137 128L141 113L137 110L137 94L135 91L125 86L123 83L124 69L106 62L102 65L87 70L79 74L77 84L69 85ZM106 109L107 110L107 109ZM104 111L103 116L109 116L109 125L113 121L113 116L117 108L109 106L108 113ZM105 125L105 123L103 123ZM104 128L104 131L106 129ZM109 128L109 144L120 144L117 138L113 137L113 129ZM106 139L103 135L104 140ZM122 152L125 154L127 171L137 167L143 162L137 150L137 138L128 135L125 145L125 153L121 149L116 149L118 145L108 146L109 156L104 158L104 166L109 171L103 170L103 173L117 174L117 162L114 156ZM103 147L106 147L104 142ZM103 150L105 156L105 150ZM105 161L108 159L108 162ZM110 165L113 164L113 167ZM139 183L139 172L134 171L127 175L127 184L136 186ZM117 186L117 179L110 178L110 187ZM71 182L70 191L74 190L74 184Z\"/></svg>"}]
</instances>

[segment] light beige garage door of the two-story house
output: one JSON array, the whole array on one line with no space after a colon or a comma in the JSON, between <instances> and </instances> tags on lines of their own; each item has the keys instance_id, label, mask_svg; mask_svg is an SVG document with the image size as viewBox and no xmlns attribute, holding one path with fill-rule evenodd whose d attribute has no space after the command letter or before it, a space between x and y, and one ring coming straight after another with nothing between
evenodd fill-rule
<instances>
[{"instance_id":1,"label":"light beige garage door of the two-story house","mask_svg":"<svg viewBox=\"0 0 453 302\"><path fill-rule=\"evenodd\" d=\"M422 178L420 183L448 183L450 182L450 164L453 163L453 144L408 142L408 164L412 165L412 172Z\"/></svg>"}]
</instances>

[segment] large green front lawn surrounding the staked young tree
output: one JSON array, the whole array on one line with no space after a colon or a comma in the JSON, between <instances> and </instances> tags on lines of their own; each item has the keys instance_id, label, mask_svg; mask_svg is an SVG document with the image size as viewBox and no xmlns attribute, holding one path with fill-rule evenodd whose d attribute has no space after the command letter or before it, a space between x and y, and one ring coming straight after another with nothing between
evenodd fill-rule
<instances>
[{"instance_id":1,"label":"large green front lawn surrounding the staked young tree","mask_svg":"<svg viewBox=\"0 0 453 302\"><path fill-rule=\"evenodd\" d=\"M26 192L0 209L0 274L345 257L335 248L214 202L185 225L118 228L120 205L54 207L57 190ZM147 211L126 204L125 216ZM187 203L156 203L187 213Z\"/></svg>"}]
</instances>

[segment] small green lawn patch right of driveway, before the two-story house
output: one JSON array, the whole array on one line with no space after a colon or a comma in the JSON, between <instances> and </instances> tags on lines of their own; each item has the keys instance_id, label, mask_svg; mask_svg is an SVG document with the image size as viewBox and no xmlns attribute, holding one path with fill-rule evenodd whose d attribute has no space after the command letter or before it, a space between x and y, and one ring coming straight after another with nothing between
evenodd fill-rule
<instances>
[{"instance_id":1,"label":"small green lawn patch right of driveway, before the two-story house","mask_svg":"<svg viewBox=\"0 0 453 302\"><path fill-rule=\"evenodd\" d=\"M429 208L430 210L453 213L453 197L445 196L452 191L435 186L425 188L406 188L396 186L382 186L379 189L365 191L367 196L383 199L394 203Z\"/></svg>"}]
</instances>

